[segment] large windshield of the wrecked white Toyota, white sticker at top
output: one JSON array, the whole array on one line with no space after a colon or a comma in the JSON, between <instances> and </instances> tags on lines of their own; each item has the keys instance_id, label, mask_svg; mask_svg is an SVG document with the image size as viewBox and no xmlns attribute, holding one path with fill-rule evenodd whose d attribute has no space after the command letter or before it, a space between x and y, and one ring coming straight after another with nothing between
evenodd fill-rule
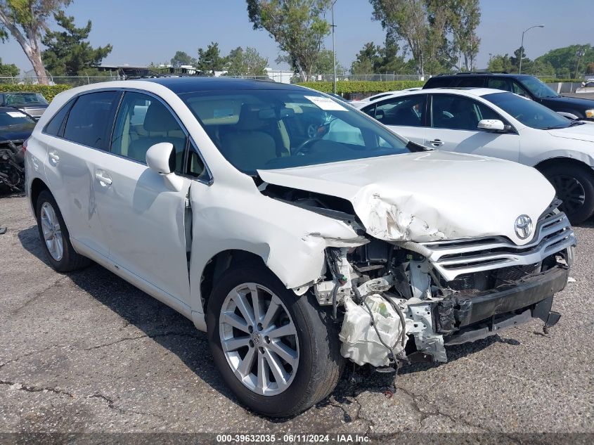
<instances>
[{"instance_id":1,"label":"large windshield of the wrecked white Toyota, white sticker at top","mask_svg":"<svg viewBox=\"0 0 594 445\"><path fill-rule=\"evenodd\" d=\"M179 95L241 172L410 153L406 141L314 91L200 91Z\"/></svg>"}]
</instances>

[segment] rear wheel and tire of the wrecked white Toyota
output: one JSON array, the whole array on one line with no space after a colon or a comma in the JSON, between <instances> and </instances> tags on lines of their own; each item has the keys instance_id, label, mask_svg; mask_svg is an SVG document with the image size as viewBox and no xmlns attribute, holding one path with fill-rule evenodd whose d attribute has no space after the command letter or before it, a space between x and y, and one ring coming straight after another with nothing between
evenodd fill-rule
<instances>
[{"instance_id":1,"label":"rear wheel and tire of the wrecked white Toyota","mask_svg":"<svg viewBox=\"0 0 594 445\"><path fill-rule=\"evenodd\" d=\"M53 269L70 272L89 266L91 260L75 251L70 243L60 208L49 191L41 191L35 208L41 246Z\"/></svg>"}]
</instances>

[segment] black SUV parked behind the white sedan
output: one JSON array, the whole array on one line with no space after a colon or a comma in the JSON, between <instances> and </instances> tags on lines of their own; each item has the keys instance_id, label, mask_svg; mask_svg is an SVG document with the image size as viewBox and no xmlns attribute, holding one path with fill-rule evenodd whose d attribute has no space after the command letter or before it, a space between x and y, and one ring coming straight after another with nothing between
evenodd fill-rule
<instances>
[{"instance_id":1,"label":"black SUV parked behind the white sedan","mask_svg":"<svg viewBox=\"0 0 594 445\"><path fill-rule=\"evenodd\" d=\"M427 80L423 89L484 87L511 91L542 103L545 107L574 120L594 121L594 100L561 96L534 76L496 72L458 72Z\"/></svg>"}]
</instances>

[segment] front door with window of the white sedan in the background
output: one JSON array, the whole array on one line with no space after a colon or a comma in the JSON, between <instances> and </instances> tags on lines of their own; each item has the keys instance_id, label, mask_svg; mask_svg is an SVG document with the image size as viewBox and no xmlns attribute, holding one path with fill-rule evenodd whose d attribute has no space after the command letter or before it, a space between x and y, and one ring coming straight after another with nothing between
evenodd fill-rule
<instances>
[{"instance_id":1,"label":"front door with window of the white sedan in the background","mask_svg":"<svg viewBox=\"0 0 594 445\"><path fill-rule=\"evenodd\" d=\"M519 136L477 129L483 119L508 122L489 106L466 96L432 94L430 127L426 129L425 146L456 151L519 159Z\"/></svg>"}]
</instances>

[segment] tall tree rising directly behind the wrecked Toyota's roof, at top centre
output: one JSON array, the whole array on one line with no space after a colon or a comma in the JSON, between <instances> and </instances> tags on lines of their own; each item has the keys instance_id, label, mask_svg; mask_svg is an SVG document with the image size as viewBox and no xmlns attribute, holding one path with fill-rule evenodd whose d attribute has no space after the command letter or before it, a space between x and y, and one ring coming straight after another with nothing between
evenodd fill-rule
<instances>
[{"instance_id":1,"label":"tall tree rising directly behind the wrecked Toyota's roof, at top centre","mask_svg":"<svg viewBox=\"0 0 594 445\"><path fill-rule=\"evenodd\" d=\"M254 30L264 29L276 40L280 51L288 54L291 66L302 81L311 75L330 33L323 15L331 0L246 0L247 15Z\"/></svg>"}]
</instances>

